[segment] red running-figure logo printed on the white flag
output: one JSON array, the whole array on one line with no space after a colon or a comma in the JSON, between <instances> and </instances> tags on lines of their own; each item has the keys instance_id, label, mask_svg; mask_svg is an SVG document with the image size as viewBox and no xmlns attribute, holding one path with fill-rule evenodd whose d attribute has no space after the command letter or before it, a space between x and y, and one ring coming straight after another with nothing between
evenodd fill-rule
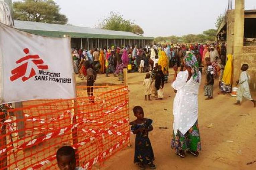
<instances>
[{"instance_id":1,"label":"red running-figure logo printed on the white flag","mask_svg":"<svg viewBox=\"0 0 256 170\"><path fill-rule=\"evenodd\" d=\"M25 54L29 53L28 48L25 48L23 51ZM48 69L48 65L43 65L44 61L40 59L38 55L26 55L25 57L22 57L21 59L16 61L16 64L20 64L20 66L14 68L11 71L11 74L12 74L12 76L10 77L11 81L21 78L22 81L24 82L35 75L35 69L36 70Z\"/></svg>"}]
</instances>

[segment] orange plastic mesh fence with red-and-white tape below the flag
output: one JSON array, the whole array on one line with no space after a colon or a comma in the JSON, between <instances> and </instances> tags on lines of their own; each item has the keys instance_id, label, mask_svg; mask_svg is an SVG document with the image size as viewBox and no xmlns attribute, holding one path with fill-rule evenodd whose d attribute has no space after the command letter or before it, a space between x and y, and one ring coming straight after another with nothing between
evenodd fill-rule
<instances>
[{"instance_id":1,"label":"orange plastic mesh fence with red-and-white tape below the flag","mask_svg":"<svg viewBox=\"0 0 256 170\"><path fill-rule=\"evenodd\" d=\"M78 86L76 99L26 101L1 112L0 169L58 169L56 152L65 145L75 149L77 166L91 169L126 146L128 88L91 92Z\"/></svg>"}]
</instances>

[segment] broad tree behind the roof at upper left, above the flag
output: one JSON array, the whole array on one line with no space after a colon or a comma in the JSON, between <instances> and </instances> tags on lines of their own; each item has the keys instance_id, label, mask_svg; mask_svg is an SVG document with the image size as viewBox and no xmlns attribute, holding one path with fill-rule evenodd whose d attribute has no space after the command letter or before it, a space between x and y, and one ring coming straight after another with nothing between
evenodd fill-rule
<instances>
[{"instance_id":1,"label":"broad tree behind the roof at upper left, above the flag","mask_svg":"<svg viewBox=\"0 0 256 170\"><path fill-rule=\"evenodd\" d=\"M23 0L13 3L14 19L23 21L67 24L54 0Z\"/></svg>"}]
</instances>

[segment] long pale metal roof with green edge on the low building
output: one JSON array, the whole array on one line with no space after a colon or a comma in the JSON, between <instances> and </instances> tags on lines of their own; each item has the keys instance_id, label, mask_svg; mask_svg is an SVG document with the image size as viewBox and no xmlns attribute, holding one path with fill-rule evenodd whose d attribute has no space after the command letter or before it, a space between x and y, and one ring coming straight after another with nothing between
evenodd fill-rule
<instances>
[{"instance_id":1,"label":"long pale metal roof with green edge on the low building","mask_svg":"<svg viewBox=\"0 0 256 170\"><path fill-rule=\"evenodd\" d=\"M153 40L154 37L139 36L131 32L112 31L97 28L78 27L71 25L49 24L41 22L14 20L14 27L32 34L63 37L70 35L71 38L101 38L101 39L146 39Z\"/></svg>"}]
</instances>

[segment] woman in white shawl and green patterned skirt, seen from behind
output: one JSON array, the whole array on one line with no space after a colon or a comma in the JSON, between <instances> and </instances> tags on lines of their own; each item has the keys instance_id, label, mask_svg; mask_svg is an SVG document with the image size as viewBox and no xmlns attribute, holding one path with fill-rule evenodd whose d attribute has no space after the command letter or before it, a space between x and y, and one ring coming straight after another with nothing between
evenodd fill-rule
<instances>
[{"instance_id":1,"label":"woman in white shawl and green patterned skirt, seen from behind","mask_svg":"<svg viewBox=\"0 0 256 170\"><path fill-rule=\"evenodd\" d=\"M201 150L198 129L198 90L201 82L201 73L195 55L187 52L184 56L185 71L177 74L174 66L175 80L172 87L176 96L173 101L173 139L171 147L177 155L184 158L185 151L198 156Z\"/></svg>"}]
</instances>

